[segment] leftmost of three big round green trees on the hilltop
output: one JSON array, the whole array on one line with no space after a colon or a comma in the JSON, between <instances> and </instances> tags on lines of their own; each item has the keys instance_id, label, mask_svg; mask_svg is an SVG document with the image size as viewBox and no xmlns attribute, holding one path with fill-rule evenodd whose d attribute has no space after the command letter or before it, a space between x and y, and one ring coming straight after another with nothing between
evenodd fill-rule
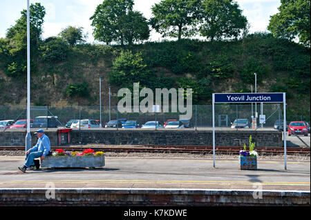
<instances>
[{"instance_id":1,"label":"leftmost of three big round green trees on the hilltop","mask_svg":"<svg viewBox=\"0 0 311 220\"><path fill-rule=\"evenodd\" d=\"M140 12L133 11L133 0L104 0L90 18L94 38L105 42L120 41L132 44L149 38L147 20Z\"/></svg>"}]
</instances>

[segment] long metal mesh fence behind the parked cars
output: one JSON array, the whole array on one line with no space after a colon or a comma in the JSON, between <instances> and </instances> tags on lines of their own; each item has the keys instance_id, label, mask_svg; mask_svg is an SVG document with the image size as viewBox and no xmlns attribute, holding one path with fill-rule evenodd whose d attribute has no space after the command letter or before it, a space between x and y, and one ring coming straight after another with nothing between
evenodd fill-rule
<instances>
[{"instance_id":1,"label":"long metal mesh fence behind the parked cars","mask_svg":"<svg viewBox=\"0 0 311 220\"><path fill-rule=\"evenodd\" d=\"M167 108L166 112L163 112ZM190 125L191 128L210 128L212 127L212 107L211 106L191 106L189 114L191 114ZM174 110L177 110L176 112ZM215 126L219 128L229 128L235 119L248 119L252 123L252 116L255 115L255 104L252 105L229 105L217 104L215 105ZM164 121L168 119L178 120L180 112L178 106L162 106L160 112L133 112L139 110L135 106L131 112L120 112L117 106L32 106L30 108L30 117L35 119L38 116L57 116L62 126L65 126L70 119L95 119L102 123L107 123L111 120L127 119L138 121L142 126L147 121L160 121L163 125ZM6 119L26 119L26 106L0 106L0 120ZM257 104L258 116L261 114L261 106ZM265 114L265 123L263 128L273 128L276 120L283 120L283 105L282 104L265 104L263 106L263 114ZM102 117L100 117L102 116ZM310 115L287 115L287 121L308 121L310 123ZM257 119L257 124L259 120Z\"/></svg>"}]
</instances>

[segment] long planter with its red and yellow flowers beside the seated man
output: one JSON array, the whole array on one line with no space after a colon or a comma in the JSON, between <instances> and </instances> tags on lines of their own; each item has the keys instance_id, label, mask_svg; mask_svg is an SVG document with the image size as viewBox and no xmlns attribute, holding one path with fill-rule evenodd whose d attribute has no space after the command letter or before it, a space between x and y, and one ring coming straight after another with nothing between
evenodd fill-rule
<instances>
[{"instance_id":1,"label":"long planter with its red and yellow flowers beside the seated man","mask_svg":"<svg viewBox=\"0 0 311 220\"><path fill-rule=\"evenodd\" d=\"M41 161L41 168L96 168L104 166L104 152L91 148L84 152L65 152L56 149L52 156Z\"/></svg>"}]
</instances>

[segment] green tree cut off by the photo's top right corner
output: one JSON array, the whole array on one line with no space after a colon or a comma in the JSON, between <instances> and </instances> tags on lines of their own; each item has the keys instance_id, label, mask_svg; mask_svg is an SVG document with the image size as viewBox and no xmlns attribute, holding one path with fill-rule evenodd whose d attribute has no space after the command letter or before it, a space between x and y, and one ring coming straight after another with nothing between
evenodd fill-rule
<instances>
[{"instance_id":1,"label":"green tree cut off by the photo's top right corner","mask_svg":"<svg viewBox=\"0 0 311 220\"><path fill-rule=\"evenodd\" d=\"M279 13L270 17L267 29L275 37L299 38L310 48L310 0L281 0Z\"/></svg>"}]
</instances>

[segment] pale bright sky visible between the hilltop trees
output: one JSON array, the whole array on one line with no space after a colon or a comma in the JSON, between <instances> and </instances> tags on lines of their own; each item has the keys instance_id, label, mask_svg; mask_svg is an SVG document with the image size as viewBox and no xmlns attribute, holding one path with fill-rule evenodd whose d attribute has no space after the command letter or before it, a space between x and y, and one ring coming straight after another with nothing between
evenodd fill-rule
<instances>
[{"instance_id":1,"label":"pale bright sky visible between the hilltop trees","mask_svg":"<svg viewBox=\"0 0 311 220\"><path fill-rule=\"evenodd\" d=\"M134 0L134 10L144 14L147 19L151 18L151 7L161 0ZM84 28L88 33L88 43L94 41L90 17L96 7L103 0L30 0L31 3L41 3L46 8L44 17L43 39L57 36L67 26ZM270 21L270 16L279 12L281 0L236 0L243 15L247 17L251 27L250 33L265 32ZM0 0L0 38L6 36L10 26L14 26L21 17L21 10L27 8L27 0ZM149 41L161 41L163 38L155 30L151 30Z\"/></svg>"}]
</instances>

